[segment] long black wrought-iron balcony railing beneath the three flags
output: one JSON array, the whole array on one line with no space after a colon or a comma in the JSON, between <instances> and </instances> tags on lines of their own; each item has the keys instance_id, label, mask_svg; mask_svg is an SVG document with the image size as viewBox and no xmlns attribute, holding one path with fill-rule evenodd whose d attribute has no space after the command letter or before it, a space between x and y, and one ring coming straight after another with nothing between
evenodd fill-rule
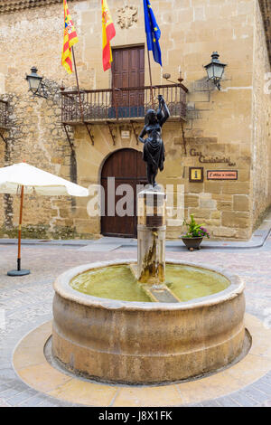
<instances>
[{"instance_id":1,"label":"long black wrought-iron balcony railing beneath the three flags","mask_svg":"<svg viewBox=\"0 0 271 425\"><path fill-rule=\"evenodd\" d=\"M153 87L154 108L158 108L158 94L162 94L171 113L171 120L186 116L186 92L182 84ZM150 86L127 89L62 91L62 123L98 124L144 119L147 109L153 108Z\"/></svg>"}]
</instances>

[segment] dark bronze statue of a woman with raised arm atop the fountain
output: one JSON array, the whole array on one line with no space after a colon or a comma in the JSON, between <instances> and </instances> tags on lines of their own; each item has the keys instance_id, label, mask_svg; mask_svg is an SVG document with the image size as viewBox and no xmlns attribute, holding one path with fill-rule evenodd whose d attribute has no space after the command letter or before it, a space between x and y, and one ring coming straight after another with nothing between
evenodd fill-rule
<instances>
[{"instance_id":1,"label":"dark bronze statue of a woman with raised arm atop the fountain","mask_svg":"<svg viewBox=\"0 0 271 425\"><path fill-rule=\"evenodd\" d=\"M155 177L160 171L164 170L164 143L161 137L162 126L170 112L165 103L164 97L158 95L159 108L157 112L149 109L145 114L145 127L140 133L138 139L144 143L143 159L146 162L146 174L148 183L156 186ZM148 137L144 138L145 135Z\"/></svg>"}]
</instances>

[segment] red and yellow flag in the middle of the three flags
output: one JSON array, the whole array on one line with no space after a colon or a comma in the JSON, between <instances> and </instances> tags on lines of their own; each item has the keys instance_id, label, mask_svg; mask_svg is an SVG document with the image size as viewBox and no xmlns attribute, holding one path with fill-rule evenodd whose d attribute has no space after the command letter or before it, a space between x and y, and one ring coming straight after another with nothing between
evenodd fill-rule
<instances>
[{"instance_id":1,"label":"red and yellow flag in the middle of the three flags","mask_svg":"<svg viewBox=\"0 0 271 425\"><path fill-rule=\"evenodd\" d=\"M102 3L102 27L103 27L103 67L104 71L111 68L112 51L110 41L116 35L111 14L108 9L107 0L101 0Z\"/></svg>"}]
</instances>

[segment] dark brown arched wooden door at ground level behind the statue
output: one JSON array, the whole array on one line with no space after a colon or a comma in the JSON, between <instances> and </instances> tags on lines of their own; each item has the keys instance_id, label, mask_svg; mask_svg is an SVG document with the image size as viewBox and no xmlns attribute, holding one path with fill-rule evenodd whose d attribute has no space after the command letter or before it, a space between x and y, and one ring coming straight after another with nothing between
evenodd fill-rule
<instances>
[{"instance_id":1,"label":"dark brown arched wooden door at ground level behind the statue","mask_svg":"<svg viewBox=\"0 0 271 425\"><path fill-rule=\"evenodd\" d=\"M115 182L112 179L108 180L109 177L114 177ZM126 196L123 187L119 187L121 184L129 184L130 190L133 190L131 203L124 204L124 210L127 210L129 215L124 216L116 213L118 201ZM147 184L147 180L142 152L125 148L108 156L101 171L101 185L105 190L105 215L101 217L101 233L104 236L136 237L136 189L138 190L138 185L145 184ZM117 192L121 194L117 194Z\"/></svg>"}]
</instances>

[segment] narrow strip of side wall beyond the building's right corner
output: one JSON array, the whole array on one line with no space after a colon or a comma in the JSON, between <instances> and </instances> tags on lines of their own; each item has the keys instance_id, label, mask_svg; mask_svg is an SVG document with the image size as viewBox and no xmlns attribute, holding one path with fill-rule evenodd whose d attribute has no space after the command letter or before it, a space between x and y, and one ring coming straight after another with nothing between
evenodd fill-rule
<instances>
[{"instance_id":1,"label":"narrow strip of side wall beyond the building's right corner","mask_svg":"<svg viewBox=\"0 0 271 425\"><path fill-rule=\"evenodd\" d=\"M255 227L271 202L271 69L258 4L255 7L253 60L251 213Z\"/></svg>"}]
</instances>

